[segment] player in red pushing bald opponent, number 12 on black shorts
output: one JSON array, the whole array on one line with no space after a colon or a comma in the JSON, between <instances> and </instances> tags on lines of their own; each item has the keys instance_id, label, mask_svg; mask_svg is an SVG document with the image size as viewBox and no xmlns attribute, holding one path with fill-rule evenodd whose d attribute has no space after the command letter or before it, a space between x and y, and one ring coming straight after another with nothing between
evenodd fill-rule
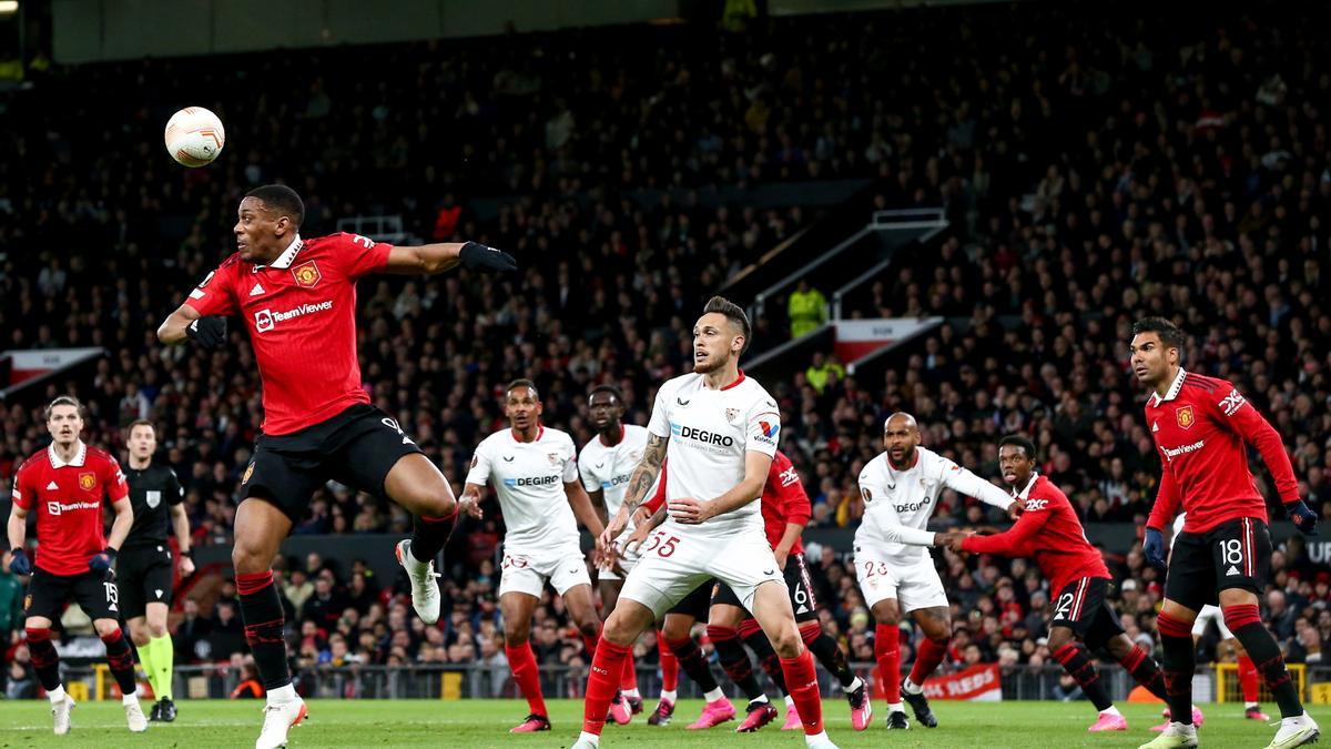
<instances>
[{"instance_id":1,"label":"player in red pushing bald opponent, number 12 on black shorts","mask_svg":"<svg viewBox=\"0 0 1331 749\"><path fill-rule=\"evenodd\" d=\"M1036 445L1020 434L998 441L998 466L1013 498L1022 502L1021 517L994 536L937 533L937 544L953 552L1032 557L1050 582L1053 617L1049 652L1077 680L1099 710L1090 732L1127 730L1127 720L1109 698L1095 669L1095 652L1111 656L1151 694L1165 698L1159 666L1123 633L1114 609L1105 601L1111 580L1105 560L1086 540L1077 510L1058 486L1036 473Z\"/></svg>"}]
</instances>

